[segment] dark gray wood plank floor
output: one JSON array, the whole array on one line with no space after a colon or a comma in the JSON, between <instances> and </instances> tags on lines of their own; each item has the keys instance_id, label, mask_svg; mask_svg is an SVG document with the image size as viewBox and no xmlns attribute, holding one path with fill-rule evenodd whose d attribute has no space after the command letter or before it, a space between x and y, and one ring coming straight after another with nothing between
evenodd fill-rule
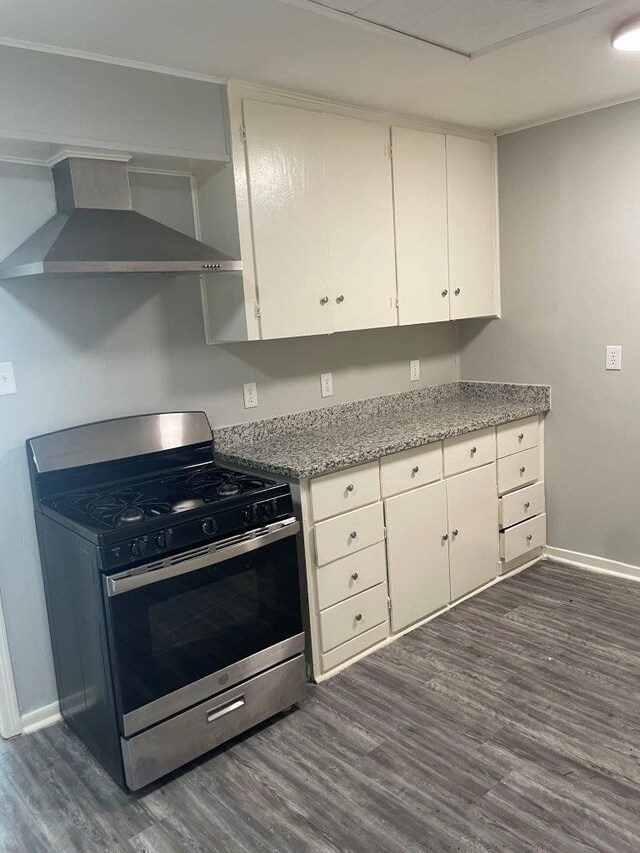
<instances>
[{"instance_id":1,"label":"dark gray wood plank floor","mask_svg":"<svg viewBox=\"0 0 640 853\"><path fill-rule=\"evenodd\" d=\"M640 584L543 562L142 794L0 744L0 850L640 851Z\"/></svg>"}]
</instances>

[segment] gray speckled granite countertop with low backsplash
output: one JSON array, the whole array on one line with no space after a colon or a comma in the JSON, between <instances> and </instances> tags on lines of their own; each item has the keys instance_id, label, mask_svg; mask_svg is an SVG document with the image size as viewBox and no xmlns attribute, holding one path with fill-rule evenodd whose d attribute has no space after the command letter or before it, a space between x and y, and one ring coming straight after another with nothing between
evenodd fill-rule
<instances>
[{"instance_id":1,"label":"gray speckled granite countertop with low backsplash","mask_svg":"<svg viewBox=\"0 0 640 853\"><path fill-rule=\"evenodd\" d=\"M548 385L450 382L214 430L217 459L292 480L315 477L547 412Z\"/></svg>"}]
</instances>

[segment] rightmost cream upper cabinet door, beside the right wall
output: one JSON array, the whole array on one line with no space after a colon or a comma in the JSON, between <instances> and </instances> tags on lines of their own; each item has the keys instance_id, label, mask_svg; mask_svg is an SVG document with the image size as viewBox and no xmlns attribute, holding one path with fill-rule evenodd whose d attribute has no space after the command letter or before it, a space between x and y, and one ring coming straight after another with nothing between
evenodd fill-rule
<instances>
[{"instance_id":1,"label":"rightmost cream upper cabinet door, beside the right wall","mask_svg":"<svg viewBox=\"0 0 640 853\"><path fill-rule=\"evenodd\" d=\"M447 136L451 319L497 311L495 147Z\"/></svg>"}]
</instances>

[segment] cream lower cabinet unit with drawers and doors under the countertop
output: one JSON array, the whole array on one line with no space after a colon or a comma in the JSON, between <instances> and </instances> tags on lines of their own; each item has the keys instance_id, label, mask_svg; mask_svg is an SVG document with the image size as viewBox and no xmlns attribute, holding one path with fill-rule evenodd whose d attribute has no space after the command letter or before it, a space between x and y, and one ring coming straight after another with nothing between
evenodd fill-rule
<instances>
[{"instance_id":1,"label":"cream lower cabinet unit with drawers and doors under the countertop","mask_svg":"<svg viewBox=\"0 0 640 853\"><path fill-rule=\"evenodd\" d=\"M542 458L534 417L305 481L314 676L537 557Z\"/></svg>"}]
</instances>

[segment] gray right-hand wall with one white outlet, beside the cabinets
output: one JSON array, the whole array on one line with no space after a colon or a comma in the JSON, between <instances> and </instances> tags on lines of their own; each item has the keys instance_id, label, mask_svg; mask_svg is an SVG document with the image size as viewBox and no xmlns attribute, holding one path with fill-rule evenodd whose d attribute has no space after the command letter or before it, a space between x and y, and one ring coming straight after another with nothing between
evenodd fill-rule
<instances>
[{"instance_id":1,"label":"gray right-hand wall with one white outlet, beside the cabinets","mask_svg":"<svg viewBox=\"0 0 640 853\"><path fill-rule=\"evenodd\" d=\"M499 180L503 319L462 376L552 386L549 544L639 565L640 101L502 137Z\"/></svg>"}]
</instances>

